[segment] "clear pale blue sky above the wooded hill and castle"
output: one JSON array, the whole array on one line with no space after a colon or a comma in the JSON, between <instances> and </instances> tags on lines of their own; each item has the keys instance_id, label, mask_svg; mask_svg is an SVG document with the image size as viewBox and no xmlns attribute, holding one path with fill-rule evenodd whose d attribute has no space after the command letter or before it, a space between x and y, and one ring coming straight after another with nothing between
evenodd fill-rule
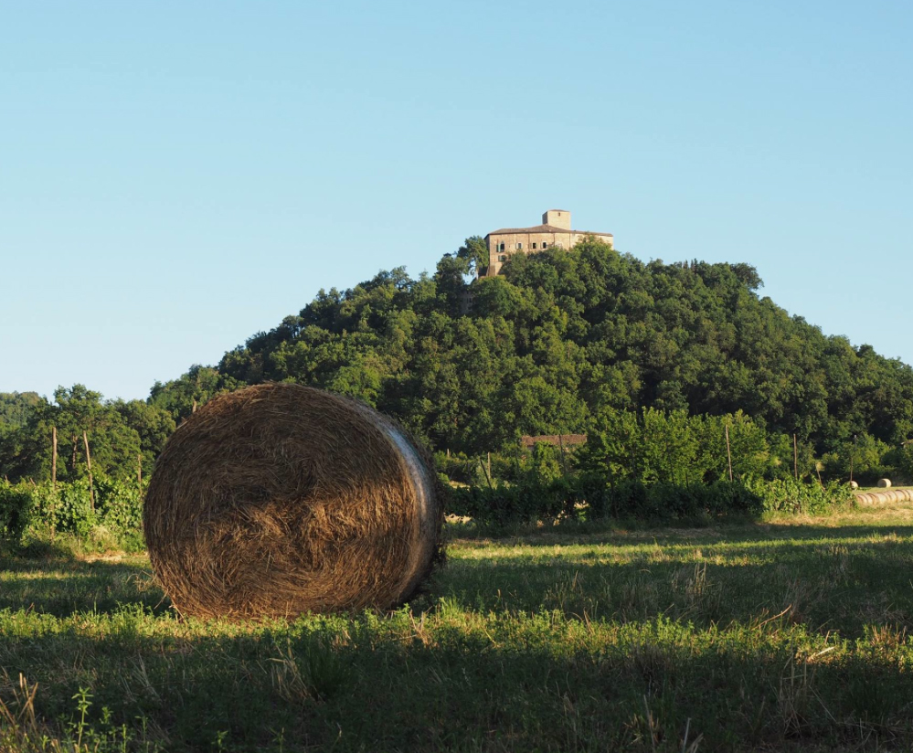
<instances>
[{"instance_id":1,"label":"clear pale blue sky above the wooded hill and castle","mask_svg":"<svg viewBox=\"0 0 913 753\"><path fill-rule=\"evenodd\" d=\"M913 5L0 5L0 391L144 398L566 208L913 362Z\"/></svg>"}]
</instances>

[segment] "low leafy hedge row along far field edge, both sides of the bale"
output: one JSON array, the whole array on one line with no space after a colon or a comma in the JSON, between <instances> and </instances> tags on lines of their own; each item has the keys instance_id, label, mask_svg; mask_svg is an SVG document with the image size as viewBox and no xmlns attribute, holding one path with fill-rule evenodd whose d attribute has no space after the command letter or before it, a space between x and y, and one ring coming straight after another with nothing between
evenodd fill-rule
<instances>
[{"instance_id":1,"label":"low leafy hedge row along far field edge, both sides of the bale","mask_svg":"<svg viewBox=\"0 0 913 753\"><path fill-rule=\"evenodd\" d=\"M599 473L579 473L552 481L470 486L449 491L448 514L484 525L508 527L572 519L637 519L652 522L757 516L765 511L824 514L853 504L845 485L801 483L792 479L718 481L709 484L608 483ZM94 504L85 480L58 483L0 481L0 539L18 543L27 532L87 536L99 526L115 535L141 536L143 490L136 483L100 476Z\"/></svg>"}]
</instances>

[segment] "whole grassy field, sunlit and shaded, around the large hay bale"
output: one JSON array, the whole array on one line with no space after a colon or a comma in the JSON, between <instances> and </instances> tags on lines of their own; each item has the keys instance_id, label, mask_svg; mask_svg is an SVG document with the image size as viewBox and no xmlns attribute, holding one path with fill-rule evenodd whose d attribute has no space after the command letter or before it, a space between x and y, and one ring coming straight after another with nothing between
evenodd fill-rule
<instances>
[{"instance_id":1,"label":"whole grassy field, sunlit and shaded, around the large hay bale","mask_svg":"<svg viewBox=\"0 0 913 753\"><path fill-rule=\"evenodd\" d=\"M144 556L6 557L0 749L913 748L913 504L449 534L407 607L266 624L180 619Z\"/></svg>"}]
</instances>

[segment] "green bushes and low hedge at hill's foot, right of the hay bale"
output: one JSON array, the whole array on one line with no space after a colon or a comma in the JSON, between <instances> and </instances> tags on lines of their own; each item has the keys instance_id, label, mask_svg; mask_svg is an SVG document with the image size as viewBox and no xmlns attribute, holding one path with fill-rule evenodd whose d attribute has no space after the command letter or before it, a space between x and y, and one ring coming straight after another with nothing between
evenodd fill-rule
<instances>
[{"instance_id":1,"label":"green bushes and low hedge at hill's foot, right of the hay bale","mask_svg":"<svg viewBox=\"0 0 913 753\"><path fill-rule=\"evenodd\" d=\"M881 471L872 463L883 458L884 448L870 444L862 443L857 467ZM483 525L825 514L854 499L839 481L839 458L825 465L810 445L794 446L791 437L770 433L741 412L607 411L575 451L536 443L514 456L483 460L438 453L436 460L448 480L458 483L448 510Z\"/></svg>"}]
</instances>

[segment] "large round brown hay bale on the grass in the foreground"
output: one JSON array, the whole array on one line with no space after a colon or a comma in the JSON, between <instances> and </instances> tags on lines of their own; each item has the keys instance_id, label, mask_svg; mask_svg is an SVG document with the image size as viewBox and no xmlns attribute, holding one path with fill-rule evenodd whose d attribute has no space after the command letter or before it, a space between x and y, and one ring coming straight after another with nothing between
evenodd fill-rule
<instances>
[{"instance_id":1,"label":"large round brown hay bale on the grass in the foreground","mask_svg":"<svg viewBox=\"0 0 913 753\"><path fill-rule=\"evenodd\" d=\"M430 460L396 423L289 384L186 419L143 511L175 608L230 619L395 606L441 558L442 520Z\"/></svg>"}]
</instances>

